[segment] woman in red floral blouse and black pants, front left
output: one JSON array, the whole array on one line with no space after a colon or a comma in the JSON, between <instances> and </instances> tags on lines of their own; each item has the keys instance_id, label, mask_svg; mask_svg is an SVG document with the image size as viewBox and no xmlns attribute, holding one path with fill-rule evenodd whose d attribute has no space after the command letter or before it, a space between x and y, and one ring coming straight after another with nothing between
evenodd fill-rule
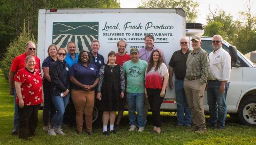
<instances>
[{"instance_id":1,"label":"woman in red floral blouse and black pants, front left","mask_svg":"<svg viewBox=\"0 0 256 145\"><path fill-rule=\"evenodd\" d=\"M32 55L26 57L26 66L15 76L16 103L19 105L19 137L28 140L35 135L37 114L40 104L44 102L42 75L40 70L34 69L36 62Z\"/></svg>"}]
</instances>

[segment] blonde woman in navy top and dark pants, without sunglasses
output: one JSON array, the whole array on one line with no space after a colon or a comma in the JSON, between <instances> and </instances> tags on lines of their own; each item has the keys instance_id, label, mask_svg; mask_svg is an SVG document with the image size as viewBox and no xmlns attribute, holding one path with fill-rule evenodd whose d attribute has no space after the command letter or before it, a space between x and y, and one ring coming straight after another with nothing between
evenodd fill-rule
<instances>
[{"instance_id":1,"label":"blonde woman in navy top and dark pants, without sunglasses","mask_svg":"<svg viewBox=\"0 0 256 145\"><path fill-rule=\"evenodd\" d=\"M55 114L55 107L52 103L52 93L51 93L51 76L49 74L49 67L52 62L57 60L57 47L55 44L49 45L47 52L48 57L44 59L42 64L42 69L44 72L43 78L43 88L44 88L44 110L43 110L43 123L44 130L48 130L48 121L50 117L50 121L52 120L53 115Z\"/></svg>"}]
</instances>

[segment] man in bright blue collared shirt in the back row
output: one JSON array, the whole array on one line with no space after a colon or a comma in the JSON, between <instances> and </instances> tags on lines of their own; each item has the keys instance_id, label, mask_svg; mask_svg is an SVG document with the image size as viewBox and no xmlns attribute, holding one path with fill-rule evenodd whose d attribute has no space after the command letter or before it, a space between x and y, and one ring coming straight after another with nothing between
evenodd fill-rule
<instances>
[{"instance_id":1,"label":"man in bright blue collared shirt in the back row","mask_svg":"<svg viewBox=\"0 0 256 145\"><path fill-rule=\"evenodd\" d=\"M78 54L76 53L76 43L72 41L68 42L67 49L68 49L68 53L65 58L65 61L69 65L69 68L71 68L71 66L74 63L78 62ZM63 116L63 124L64 125L69 124L70 126L76 124L76 109L72 102L71 96L69 98L69 103L65 109L65 113Z\"/></svg>"}]
</instances>

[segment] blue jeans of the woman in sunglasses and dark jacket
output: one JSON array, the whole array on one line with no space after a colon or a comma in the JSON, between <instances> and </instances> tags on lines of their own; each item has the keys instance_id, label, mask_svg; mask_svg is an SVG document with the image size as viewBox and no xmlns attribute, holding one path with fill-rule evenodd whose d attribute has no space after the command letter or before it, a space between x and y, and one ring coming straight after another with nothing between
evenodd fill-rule
<instances>
[{"instance_id":1,"label":"blue jeans of the woman in sunglasses and dark jacket","mask_svg":"<svg viewBox=\"0 0 256 145\"><path fill-rule=\"evenodd\" d=\"M69 94L66 97L52 95L52 102L57 110L57 113L52 117L51 128L58 126L61 128L65 108L68 105Z\"/></svg>"}]
</instances>

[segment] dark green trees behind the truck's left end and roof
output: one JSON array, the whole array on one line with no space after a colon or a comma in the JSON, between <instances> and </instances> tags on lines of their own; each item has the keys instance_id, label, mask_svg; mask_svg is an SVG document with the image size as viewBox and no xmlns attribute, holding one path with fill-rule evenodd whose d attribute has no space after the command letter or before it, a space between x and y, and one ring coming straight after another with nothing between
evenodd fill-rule
<instances>
[{"instance_id":1,"label":"dark green trees behind the truck's left end and roof","mask_svg":"<svg viewBox=\"0 0 256 145\"><path fill-rule=\"evenodd\" d=\"M38 10L43 8L120 8L118 0L0 0L0 59L19 35L25 20L37 38Z\"/></svg>"}]
</instances>

